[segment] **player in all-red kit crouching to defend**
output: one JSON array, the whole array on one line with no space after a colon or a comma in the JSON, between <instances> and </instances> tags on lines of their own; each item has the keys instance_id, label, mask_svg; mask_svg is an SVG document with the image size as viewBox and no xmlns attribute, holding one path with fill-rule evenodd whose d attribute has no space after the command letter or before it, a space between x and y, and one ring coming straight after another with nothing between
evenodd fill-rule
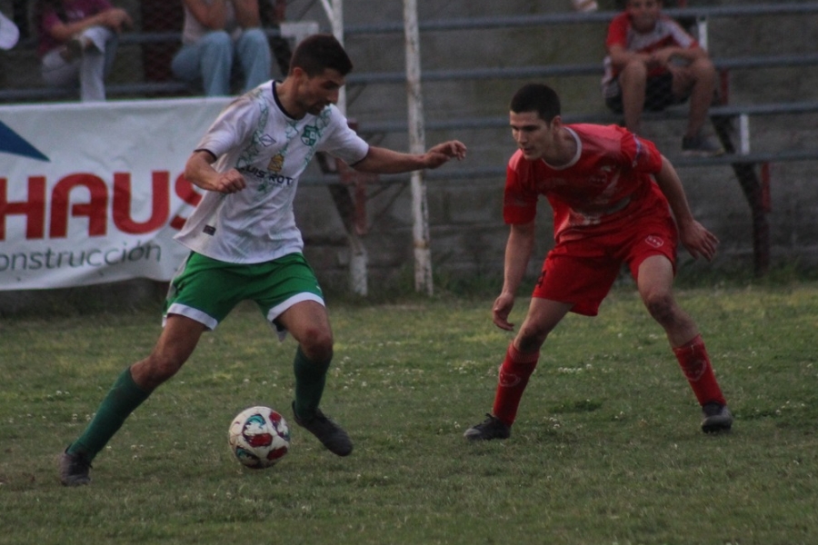
<instances>
[{"instance_id":1,"label":"player in all-red kit crouching to defend","mask_svg":"<svg viewBox=\"0 0 818 545\"><path fill-rule=\"evenodd\" d=\"M559 96L544 84L527 84L514 94L510 124L519 149L506 170L503 213L511 232L503 291L493 308L498 327L514 329L508 315L534 248L540 195L554 210L554 248L500 366L493 411L464 437L510 436L548 333L567 312L595 316L623 263L702 405L703 431L729 430L733 416L702 336L673 298L677 240L694 258L708 261L718 240L693 218L673 165L653 143L621 127L563 124Z\"/></svg>"}]
</instances>

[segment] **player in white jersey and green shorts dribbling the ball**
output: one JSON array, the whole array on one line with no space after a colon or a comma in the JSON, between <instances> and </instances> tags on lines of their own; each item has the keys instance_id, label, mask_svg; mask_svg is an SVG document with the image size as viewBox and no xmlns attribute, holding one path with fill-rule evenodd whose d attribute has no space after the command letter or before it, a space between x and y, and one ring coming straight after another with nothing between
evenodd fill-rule
<instances>
[{"instance_id":1,"label":"player in white jersey and green shorts dribbling the ball","mask_svg":"<svg viewBox=\"0 0 818 545\"><path fill-rule=\"evenodd\" d=\"M333 357L333 332L304 243L295 225L298 178L316 152L366 173L404 173L463 159L464 144L437 144L403 154L366 144L334 106L352 62L332 35L309 36L296 48L283 82L237 98L207 131L185 165L205 190L176 235L191 253L171 282L154 350L125 369L95 418L60 458L66 486L91 481L91 461L151 392L178 372L202 335L244 300L298 348L294 358L295 422L338 456L352 441L318 408Z\"/></svg>"}]
</instances>

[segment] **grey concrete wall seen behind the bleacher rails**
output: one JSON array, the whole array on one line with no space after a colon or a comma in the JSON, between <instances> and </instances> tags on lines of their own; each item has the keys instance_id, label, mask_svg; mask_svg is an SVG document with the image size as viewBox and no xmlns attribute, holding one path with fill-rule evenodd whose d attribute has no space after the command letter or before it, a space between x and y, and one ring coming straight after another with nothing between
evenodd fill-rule
<instances>
[{"instance_id":1,"label":"grey concrete wall seen behind the bleacher rails","mask_svg":"<svg viewBox=\"0 0 818 545\"><path fill-rule=\"evenodd\" d=\"M420 3L420 20L483 17L509 14L559 13L568 2L513 0L504 3ZM695 5L746 4L700 2ZM365 25L402 21L401 2L347 0L345 24ZM612 8L613 5L608 6ZM325 22L320 11L308 14ZM818 16L736 17L710 22L713 57L809 53L816 42ZM325 23L324 23L325 24ZM484 66L530 64L586 64L604 56L604 24L559 25L424 33L421 53L424 70L464 69ZM404 69L402 35L351 35L347 48L356 72L390 72ZM462 118L470 115L505 115L507 102L524 81L469 80L424 84L424 107L428 119ZM564 77L547 82L564 99L565 114L604 112L599 78ZM736 70L730 75L730 102L753 104L810 100L818 83L818 67ZM370 84L349 88L349 114L365 132L367 122L405 120L404 87ZM818 115L754 117L751 120L752 150L815 149ZM680 153L683 120L648 124L646 135L668 157ZM506 129L468 130L454 133L427 132L431 145L456 137L470 148L464 167L500 166L514 152ZM382 134L376 144L406 149L403 134ZM444 169L458 166L445 166ZM770 214L773 263L818 263L818 228L813 221L818 206L815 162L772 165L772 213ZM713 265L689 263L689 268L753 268L752 218L745 197L729 166L690 167L680 170L693 212L722 241ZM428 184L432 253L435 273L499 273L503 266L507 228L502 223L503 179L451 180ZM378 285L413 267L410 192L406 184L375 186L370 191L367 213L371 232L364 241L371 258L371 283ZM301 193L297 211L304 228L311 260L318 264L324 282L343 283L345 241L340 220L322 188ZM330 211L328 213L328 211ZM551 216L544 203L538 219L537 257L551 246ZM538 272L535 259L529 272ZM411 274L408 275L411 282Z\"/></svg>"}]
</instances>

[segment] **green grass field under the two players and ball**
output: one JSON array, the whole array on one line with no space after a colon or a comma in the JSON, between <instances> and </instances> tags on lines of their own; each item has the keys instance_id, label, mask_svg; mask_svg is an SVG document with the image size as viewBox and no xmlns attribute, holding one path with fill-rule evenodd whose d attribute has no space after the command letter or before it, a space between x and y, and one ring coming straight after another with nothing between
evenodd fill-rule
<instances>
[{"instance_id":1,"label":"green grass field under the two players and ball","mask_svg":"<svg viewBox=\"0 0 818 545\"><path fill-rule=\"evenodd\" d=\"M462 433L491 408L510 336L493 296L330 302L324 410L345 459L290 418L294 342L252 307L125 422L90 486L56 457L158 311L0 323L0 543L818 543L818 283L685 289L736 416L706 436L663 334L631 289L545 345L508 441ZM519 300L513 318L522 320ZM244 470L226 431L244 407L291 420L290 453Z\"/></svg>"}]
</instances>

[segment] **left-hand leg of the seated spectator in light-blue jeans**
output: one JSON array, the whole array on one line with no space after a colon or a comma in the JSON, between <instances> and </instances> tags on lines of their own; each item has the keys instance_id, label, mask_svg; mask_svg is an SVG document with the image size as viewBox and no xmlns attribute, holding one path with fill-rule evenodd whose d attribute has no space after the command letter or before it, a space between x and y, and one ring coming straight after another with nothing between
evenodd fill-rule
<instances>
[{"instance_id":1,"label":"left-hand leg of the seated spectator in light-blue jeans","mask_svg":"<svg viewBox=\"0 0 818 545\"><path fill-rule=\"evenodd\" d=\"M224 31L208 33L193 45L183 45L175 54L171 70L188 84L202 84L207 96L230 94L233 41Z\"/></svg>"}]
</instances>

